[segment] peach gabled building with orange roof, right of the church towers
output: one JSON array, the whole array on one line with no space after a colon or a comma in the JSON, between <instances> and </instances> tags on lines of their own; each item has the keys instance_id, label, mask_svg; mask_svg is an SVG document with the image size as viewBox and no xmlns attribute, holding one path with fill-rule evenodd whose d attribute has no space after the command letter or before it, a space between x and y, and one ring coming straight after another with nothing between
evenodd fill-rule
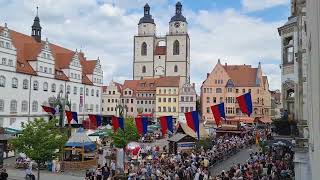
<instances>
[{"instance_id":1,"label":"peach gabled building with orange roof, right of the church towers","mask_svg":"<svg viewBox=\"0 0 320 180\"><path fill-rule=\"evenodd\" d=\"M201 86L202 120L214 122L210 107L225 103L227 118L247 116L242 114L236 97L251 92L252 117L269 117L271 95L266 76L262 75L261 64L257 68L251 65L222 65L220 60Z\"/></svg>"}]
</instances>

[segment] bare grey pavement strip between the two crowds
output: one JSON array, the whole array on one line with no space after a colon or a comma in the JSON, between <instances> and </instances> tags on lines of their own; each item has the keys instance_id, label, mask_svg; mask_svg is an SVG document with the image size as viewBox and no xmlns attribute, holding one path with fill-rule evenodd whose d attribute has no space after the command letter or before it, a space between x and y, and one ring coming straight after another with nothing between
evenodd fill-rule
<instances>
[{"instance_id":1,"label":"bare grey pavement strip between the two crowds","mask_svg":"<svg viewBox=\"0 0 320 180\"><path fill-rule=\"evenodd\" d=\"M251 148L242 149L234 156L212 167L210 172L212 175L218 175L222 170L229 170L234 164L244 164L249 159L250 153L256 151L258 151L258 147L256 145L253 145Z\"/></svg>"}]
</instances>

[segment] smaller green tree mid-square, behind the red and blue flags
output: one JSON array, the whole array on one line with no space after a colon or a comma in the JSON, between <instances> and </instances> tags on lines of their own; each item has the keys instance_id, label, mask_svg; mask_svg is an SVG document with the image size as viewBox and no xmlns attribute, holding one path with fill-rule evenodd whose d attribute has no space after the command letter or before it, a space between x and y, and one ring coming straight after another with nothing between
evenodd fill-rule
<instances>
[{"instance_id":1,"label":"smaller green tree mid-square, behind the red and blue flags","mask_svg":"<svg viewBox=\"0 0 320 180\"><path fill-rule=\"evenodd\" d=\"M125 118L124 131L119 128L111 133L111 138L117 148L124 148L131 141L138 141L140 136L133 118Z\"/></svg>"}]
</instances>

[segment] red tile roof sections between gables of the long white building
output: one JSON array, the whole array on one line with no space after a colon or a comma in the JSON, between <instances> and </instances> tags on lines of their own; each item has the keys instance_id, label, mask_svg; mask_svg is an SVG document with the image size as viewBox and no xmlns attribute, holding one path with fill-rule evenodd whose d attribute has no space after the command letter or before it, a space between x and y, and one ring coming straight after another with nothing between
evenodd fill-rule
<instances>
[{"instance_id":1,"label":"red tile roof sections between gables of the long white building","mask_svg":"<svg viewBox=\"0 0 320 180\"><path fill-rule=\"evenodd\" d=\"M4 27L0 26L0 31L3 29ZM33 70L28 61L37 60L37 56L41 52L45 41L41 41L39 43L29 35L25 35L14 30L9 30L9 32L13 45L17 49L17 72L36 75L36 72ZM76 52L51 43L49 46L55 59L55 69L62 73L59 75L56 74L55 78L68 81L68 77L61 70L69 68L72 57ZM79 52L78 54L83 68L83 74L92 74L97 61L86 60L82 52ZM92 82L86 76L83 76L82 81L86 84L92 84Z\"/></svg>"}]
</instances>

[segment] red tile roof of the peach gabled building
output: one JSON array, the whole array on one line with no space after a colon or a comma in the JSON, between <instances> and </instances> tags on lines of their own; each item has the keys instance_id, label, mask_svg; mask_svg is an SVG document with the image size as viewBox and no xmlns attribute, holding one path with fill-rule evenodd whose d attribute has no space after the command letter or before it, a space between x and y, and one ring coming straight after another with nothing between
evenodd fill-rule
<instances>
[{"instance_id":1,"label":"red tile roof of the peach gabled building","mask_svg":"<svg viewBox=\"0 0 320 180\"><path fill-rule=\"evenodd\" d=\"M250 65L224 65L223 67L235 86L259 86L256 84L258 68L252 68Z\"/></svg>"}]
</instances>

